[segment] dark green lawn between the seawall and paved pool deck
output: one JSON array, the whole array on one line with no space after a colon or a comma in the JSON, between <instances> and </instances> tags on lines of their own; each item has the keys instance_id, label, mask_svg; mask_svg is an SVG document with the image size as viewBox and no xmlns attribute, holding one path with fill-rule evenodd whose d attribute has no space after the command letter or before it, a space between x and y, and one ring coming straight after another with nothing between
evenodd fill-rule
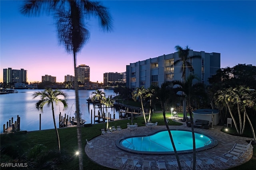
<instances>
[{"instance_id":1,"label":"dark green lawn between the seawall and paved pool deck","mask_svg":"<svg viewBox=\"0 0 256 170\"><path fill-rule=\"evenodd\" d=\"M170 117L171 113L166 113L166 117ZM181 116L181 115L180 115ZM148 116L147 116L148 117ZM182 117L182 116L181 116ZM154 113L152 116L152 122L158 122L158 125L164 125L164 119L162 113ZM117 121L111 121L109 122L109 127L111 126L117 126L120 125L122 129L127 128L127 123L131 123L130 119L122 119ZM138 126L144 126L144 117L134 117L133 122L138 123ZM181 125L181 123L178 123L176 121L170 120L169 125ZM98 123L93 124L89 127L82 127L82 146L84 147L86 145L86 139L90 141L91 139L101 135L100 129L106 128L106 123ZM58 129L59 136L60 136L60 147L61 147L61 153L62 156L64 156L65 160L62 160L58 164L58 168L60 169L79 169L78 167L78 158L75 156L75 152L77 150L77 128L76 127L66 127L66 128L60 128ZM26 149L30 149L31 147L41 144L45 145L47 149L49 150L57 150L57 140L56 140L56 133L54 129L49 130L42 130L42 131L33 131L29 132L25 135L22 135L26 137L26 141L30 144L29 147ZM1 143L3 145L3 143ZM107 168L101 165L98 165L96 162L93 162L90 160L90 158L85 154L85 152L82 152L83 154L83 164L84 169L89 170L110 170L111 168ZM2 161L5 161L3 159L7 159L4 155L1 154L1 163ZM232 170L235 169L253 169L256 164L256 146L254 146L254 155L252 159L245 164L232 168Z\"/></svg>"}]
</instances>

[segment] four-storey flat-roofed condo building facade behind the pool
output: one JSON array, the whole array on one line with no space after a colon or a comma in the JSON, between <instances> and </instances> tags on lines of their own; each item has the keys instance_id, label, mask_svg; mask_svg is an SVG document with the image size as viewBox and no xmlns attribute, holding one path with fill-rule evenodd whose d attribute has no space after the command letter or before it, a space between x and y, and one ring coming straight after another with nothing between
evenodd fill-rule
<instances>
[{"instance_id":1,"label":"four-storey flat-roofed condo building facade behind the pool","mask_svg":"<svg viewBox=\"0 0 256 170\"><path fill-rule=\"evenodd\" d=\"M195 74L200 82L208 85L208 78L220 69L220 53L197 52L190 49L188 57L196 55L200 55L201 58L190 59L189 62L194 70L186 68L186 77ZM136 90L137 87L149 88L150 85L161 86L164 82L182 80L182 63L174 65L179 59L176 52L130 63L126 66L126 87Z\"/></svg>"}]
</instances>

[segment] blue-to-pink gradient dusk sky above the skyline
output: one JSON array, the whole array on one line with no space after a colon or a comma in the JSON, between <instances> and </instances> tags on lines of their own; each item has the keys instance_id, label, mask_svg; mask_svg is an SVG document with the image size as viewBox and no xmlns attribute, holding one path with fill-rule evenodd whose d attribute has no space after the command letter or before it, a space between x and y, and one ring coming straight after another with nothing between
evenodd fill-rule
<instances>
[{"instance_id":1,"label":"blue-to-pink gradient dusk sky above the skyline","mask_svg":"<svg viewBox=\"0 0 256 170\"><path fill-rule=\"evenodd\" d=\"M90 80L105 72L125 72L126 65L176 52L220 53L221 68L256 65L256 1L101 1L113 18L111 32L98 19L86 20L90 40L76 65L90 66ZM74 76L73 56L58 43L51 16L20 14L22 1L0 0L0 82L3 69L28 70L28 82L45 74Z\"/></svg>"}]
</instances>

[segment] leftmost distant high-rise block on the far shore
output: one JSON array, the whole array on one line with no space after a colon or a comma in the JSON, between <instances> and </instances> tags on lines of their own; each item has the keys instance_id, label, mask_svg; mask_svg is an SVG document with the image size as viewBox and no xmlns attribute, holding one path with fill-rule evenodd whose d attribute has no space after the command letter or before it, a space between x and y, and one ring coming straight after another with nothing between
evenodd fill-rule
<instances>
[{"instance_id":1,"label":"leftmost distant high-rise block on the far shore","mask_svg":"<svg viewBox=\"0 0 256 170\"><path fill-rule=\"evenodd\" d=\"M14 70L12 68L3 69L3 82L4 83L26 83L27 82L27 70L21 68L20 70Z\"/></svg>"}]
</instances>

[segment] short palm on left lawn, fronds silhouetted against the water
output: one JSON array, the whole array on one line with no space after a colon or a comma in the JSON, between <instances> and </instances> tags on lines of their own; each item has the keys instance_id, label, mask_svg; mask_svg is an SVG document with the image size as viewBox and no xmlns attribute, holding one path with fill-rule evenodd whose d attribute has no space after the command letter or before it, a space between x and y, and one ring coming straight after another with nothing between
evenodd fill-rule
<instances>
[{"instance_id":1,"label":"short palm on left lawn, fronds silhouetted against the water","mask_svg":"<svg viewBox=\"0 0 256 170\"><path fill-rule=\"evenodd\" d=\"M58 129L56 127L53 103L61 102L64 108L68 107L68 104L66 102L67 94L58 89L52 90L51 88L47 88L46 90L43 90L43 91L34 92L33 96L34 96L33 99L36 98L37 96L40 96L41 98L41 100L39 100L36 103L36 109L43 111L43 107L45 104L47 104L47 106L52 106L52 118L54 123L54 129L56 131L58 148L60 151L60 137L59 137ZM58 96L63 96L64 99L59 99Z\"/></svg>"}]
</instances>

